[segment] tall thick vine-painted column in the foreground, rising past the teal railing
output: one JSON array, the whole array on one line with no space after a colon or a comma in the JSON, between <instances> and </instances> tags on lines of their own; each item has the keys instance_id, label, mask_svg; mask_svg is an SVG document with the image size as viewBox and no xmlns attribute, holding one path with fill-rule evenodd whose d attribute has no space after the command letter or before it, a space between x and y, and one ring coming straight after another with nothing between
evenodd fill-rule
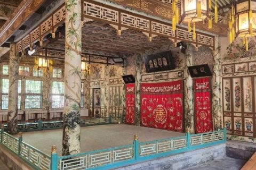
<instances>
[{"instance_id":1,"label":"tall thick vine-painted column in the foreground, rising past the teal railing","mask_svg":"<svg viewBox=\"0 0 256 170\"><path fill-rule=\"evenodd\" d=\"M66 0L65 103L62 155L80 152L81 111L81 1Z\"/></svg>"}]
</instances>

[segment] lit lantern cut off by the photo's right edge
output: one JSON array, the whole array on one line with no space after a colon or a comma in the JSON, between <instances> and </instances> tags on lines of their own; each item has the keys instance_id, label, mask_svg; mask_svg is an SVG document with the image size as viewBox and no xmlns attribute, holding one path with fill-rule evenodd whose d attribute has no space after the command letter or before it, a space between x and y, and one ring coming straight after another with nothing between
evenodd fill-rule
<instances>
[{"instance_id":1,"label":"lit lantern cut off by the photo's right edge","mask_svg":"<svg viewBox=\"0 0 256 170\"><path fill-rule=\"evenodd\" d=\"M236 36L244 38L248 50L248 37L256 36L256 1L244 1L236 4Z\"/></svg>"}]
</instances>

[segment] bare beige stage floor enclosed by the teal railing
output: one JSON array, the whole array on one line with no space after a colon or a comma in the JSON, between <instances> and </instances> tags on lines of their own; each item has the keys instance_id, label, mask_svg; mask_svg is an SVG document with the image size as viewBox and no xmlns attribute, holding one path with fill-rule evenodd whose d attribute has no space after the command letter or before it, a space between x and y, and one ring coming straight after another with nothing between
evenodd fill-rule
<instances>
[{"instance_id":1,"label":"bare beige stage floor enclosed by the teal railing","mask_svg":"<svg viewBox=\"0 0 256 170\"><path fill-rule=\"evenodd\" d=\"M185 135L185 133L126 124L86 126L81 128L81 152L130 145L134 134L138 135L140 142ZM51 146L55 145L60 156L62 129L24 132L23 141L49 155Z\"/></svg>"}]
</instances>

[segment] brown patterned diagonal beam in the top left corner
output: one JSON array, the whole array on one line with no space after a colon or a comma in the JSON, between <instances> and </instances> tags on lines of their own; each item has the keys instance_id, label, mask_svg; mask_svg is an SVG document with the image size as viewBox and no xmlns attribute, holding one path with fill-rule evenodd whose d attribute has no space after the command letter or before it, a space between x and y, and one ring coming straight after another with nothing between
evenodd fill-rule
<instances>
[{"instance_id":1,"label":"brown patterned diagonal beam in the top left corner","mask_svg":"<svg viewBox=\"0 0 256 170\"><path fill-rule=\"evenodd\" d=\"M46 0L23 0L0 29L0 45L10 38L45 1Z\"/></svg>"}]
</instances>

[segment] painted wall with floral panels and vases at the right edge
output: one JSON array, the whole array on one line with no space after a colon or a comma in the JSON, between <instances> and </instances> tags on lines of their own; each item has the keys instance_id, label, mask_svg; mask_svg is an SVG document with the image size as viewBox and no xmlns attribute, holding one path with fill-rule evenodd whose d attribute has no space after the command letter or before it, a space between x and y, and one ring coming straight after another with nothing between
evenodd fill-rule
<instances>
[{"instance_id":1,"label":"painted wall with floral panels and vases at the right edge","mask_svg":"<svg viewBox=\"0 0 256 170\"><path fill-rule=\"evenodd\" d=\"M222 110L223 122L227 127L227 137L232 140L254 143L256 143L254 130L256 121L254 108L256 102L254 92L256 88L255 45L256 38L250 38L249 50L246 51L243 40L237 38L227 47L227 50L223 50L221 58ZM226 89L225 86L227 86Z\"/></svg>"}]
</instances>

